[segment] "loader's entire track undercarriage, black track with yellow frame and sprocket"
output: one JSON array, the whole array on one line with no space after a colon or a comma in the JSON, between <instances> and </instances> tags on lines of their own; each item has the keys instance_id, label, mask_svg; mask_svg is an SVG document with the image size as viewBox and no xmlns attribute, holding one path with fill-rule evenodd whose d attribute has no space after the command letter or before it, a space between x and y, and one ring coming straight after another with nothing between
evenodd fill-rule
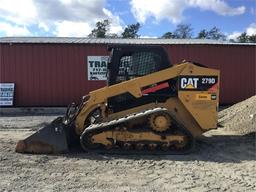
<instances>
[{"instance_id":1,"label":"loader's entire track undercarriage, black track with yellow frame and sprocket","mask_svg":"<svg viewBox=\"0 0 256 192\"><path fill-rule=\"evenodd\" d=\"M80 137L84 150L98 153L182 154L193 147L192 135L164 108L92 124Z\"/></svg>"}]
</instances>

